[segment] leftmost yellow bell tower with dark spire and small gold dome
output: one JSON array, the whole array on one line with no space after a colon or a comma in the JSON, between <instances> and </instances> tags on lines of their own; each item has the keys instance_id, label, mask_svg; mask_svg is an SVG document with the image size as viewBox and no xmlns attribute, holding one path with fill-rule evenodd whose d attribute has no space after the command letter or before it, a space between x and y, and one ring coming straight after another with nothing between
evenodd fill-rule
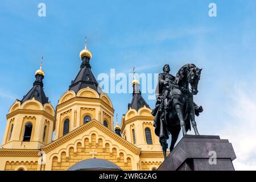
<instances>
[{"instance_id":1,"label":"leftmost yellow bell tower with dark spire and small gold dome","mask_svg":"<svg viewBox=\"0 0 256 182\"><path fill-rule=\"evenodd\" d=\"M43 57L42 57L43 61ZM6 115L7 123L1 148L38 149L52 142L55 110L43 90L42 63L35 73L30 91L16 100Z\"/></svg>"}]
</instances>

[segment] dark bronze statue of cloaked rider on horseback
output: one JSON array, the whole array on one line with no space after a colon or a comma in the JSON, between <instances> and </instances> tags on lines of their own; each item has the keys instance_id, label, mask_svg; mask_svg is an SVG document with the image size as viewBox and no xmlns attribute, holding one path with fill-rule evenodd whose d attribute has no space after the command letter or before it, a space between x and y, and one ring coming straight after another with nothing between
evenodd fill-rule
<instances>
[{"instance_id":1,"label":"dark bronze statue of cloaked rider on horseback","mask_svg":"<svg viewBox=\"0 0 256 182\"><path fill-rule=\"evenodd\" d=\"M157 101L152 115L155 116L155 134L159 137L164 158L166 158L169 133L172 137L170 151L174 149L180 128L185 135L188 130L191 130L192 125L195 134L199 135L195 115L199 116L203 107L199 107L193 102L193 95L198 93L197 85L201 70L195 64L186 64L179 69L176 77L174 77L170 74L170 66L166 64L163 67L163 73L158 76Z\"/></svg>"}]
</instances>

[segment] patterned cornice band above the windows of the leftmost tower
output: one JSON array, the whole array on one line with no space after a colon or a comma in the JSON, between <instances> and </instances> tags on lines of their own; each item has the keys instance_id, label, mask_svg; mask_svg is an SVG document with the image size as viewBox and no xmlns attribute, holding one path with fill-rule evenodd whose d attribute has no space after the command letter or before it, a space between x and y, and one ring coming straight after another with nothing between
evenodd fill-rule
<instances>
[{"instance_id":1,"label":"patterned cornice band above the windows of the leftmost tower","mask_svg":"<svg viewBox=\"0 0 256 182\"><path fill-rule=\"evenodd\" d=\"M30 115L43 115L44 117L50 119L51 121L55 121L55 117L51 114L48 114L44 110L33 110L33 109L17 109L6 115L6 118L12 118L16 114L30 114Z\"/></svg>"}]
</instances>

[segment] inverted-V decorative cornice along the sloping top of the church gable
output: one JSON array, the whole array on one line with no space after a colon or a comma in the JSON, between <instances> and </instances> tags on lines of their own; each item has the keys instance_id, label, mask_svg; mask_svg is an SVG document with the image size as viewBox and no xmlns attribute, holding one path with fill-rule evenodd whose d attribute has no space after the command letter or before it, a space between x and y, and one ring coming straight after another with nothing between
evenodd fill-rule
<instances>
[{"instance_id":1,"label":"inverted-V decorative cornice along the sloping top of the church gable","mask_svg":"<svg viewBox=\"0 0 256 182\"><path fill-rule=\"evenodd\" d=\"M120 137L119 135L115 134L113 131L109 130L107 127L102 125L100 122L93 119L92 121L86 123L85 125L80 126L76 130L71 131L71 133L65 135L64 137L61 137L57 140L55 140L52 143L49 143L47 146L41 147L41 150L48 153L49 151L55 149L56 147L61 146L61 144L68 142L69 140L77 137L78 135L84 133L86 130L96 127L98 130L102 131L112 139L114 139L116 142L122 144L122 146L126 147L130 151L134 152L134 154L139 155L141 153L141 149L135 147L133 144L127 142L125 139Z\"/></svg>"}]
</instances>

